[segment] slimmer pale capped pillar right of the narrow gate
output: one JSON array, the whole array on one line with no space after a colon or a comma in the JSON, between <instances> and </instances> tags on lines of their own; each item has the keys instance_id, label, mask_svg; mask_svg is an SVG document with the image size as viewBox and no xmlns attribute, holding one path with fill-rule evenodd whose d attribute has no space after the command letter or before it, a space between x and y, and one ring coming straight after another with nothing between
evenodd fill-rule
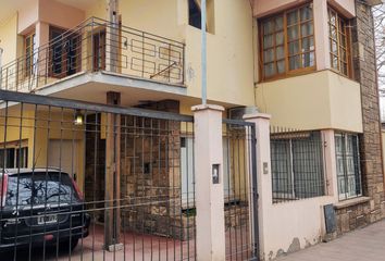
<instances>
[{"instance_id":1,"label":"slimmer pale capped pillar right of the narrow gate","mask_svg":"<svg viewBox=\"0 0 385 261\"><path fill-rule=\"evenodd\" d=\"M257 147L257 189L259 194L258 226L259 226L259 252L263 260L265 250L264 223L269 220L269 209L273 203L271 154L270 154L270 115L263 113L247 114L244 120L256 124ZM256 203L256 202L253 202Z\"/></svg>"}]
</instances>

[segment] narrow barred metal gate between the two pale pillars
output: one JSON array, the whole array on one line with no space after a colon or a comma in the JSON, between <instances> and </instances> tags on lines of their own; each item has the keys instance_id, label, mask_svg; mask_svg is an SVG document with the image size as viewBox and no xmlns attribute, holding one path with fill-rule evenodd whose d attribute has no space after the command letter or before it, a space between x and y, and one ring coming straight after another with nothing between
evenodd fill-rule
<instances>
[{"instance_id":1,"label":"narrow barred metal gate between the two pale pillars","mask_svg":"<svg viewBox=\"0 0 385 261\"><path fill-rule=\"evenodd\" d=\"M223 123L226 260L259 260L254 124Z\"/></svg>"}]
</instances>

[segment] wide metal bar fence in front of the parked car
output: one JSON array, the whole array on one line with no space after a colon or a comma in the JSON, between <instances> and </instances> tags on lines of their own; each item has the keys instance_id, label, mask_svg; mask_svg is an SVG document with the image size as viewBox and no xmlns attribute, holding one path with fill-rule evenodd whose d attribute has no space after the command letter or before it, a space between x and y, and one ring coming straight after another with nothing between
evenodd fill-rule
<instances>
[{"instance_id":1,"label":"wide metal bar fence in front of the parked car","mask_svg":"<svg viewBox=\"0 0 385 261\"><path fill-rule=\"evenodd\" d=\"M195 260L192 140L191 116L1 90L1 260Z\"/></svg>"}]
</instances>

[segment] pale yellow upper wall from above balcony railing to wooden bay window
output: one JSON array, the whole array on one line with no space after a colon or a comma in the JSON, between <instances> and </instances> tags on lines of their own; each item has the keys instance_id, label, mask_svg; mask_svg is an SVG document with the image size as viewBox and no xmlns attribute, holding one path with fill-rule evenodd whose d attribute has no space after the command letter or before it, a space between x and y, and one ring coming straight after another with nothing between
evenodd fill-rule
<instances>
[{"instance_id":1,"label":"pale yellow upper wall from above balcony railing to wooden bay window","mask_svg":"<svg viewBox=\"0 0 385 261\"><path fill-rule=\"evenodd\" d=\"M187 0L121 1L123 25L186 44L187 94L201 96L200 30L188 25ZM209 5L208 99L253 105L252 12L247 0ZM146 15L145 15L146 14ZM232 17L232 18L228 18Z\"/></svg>"}]
</instances>

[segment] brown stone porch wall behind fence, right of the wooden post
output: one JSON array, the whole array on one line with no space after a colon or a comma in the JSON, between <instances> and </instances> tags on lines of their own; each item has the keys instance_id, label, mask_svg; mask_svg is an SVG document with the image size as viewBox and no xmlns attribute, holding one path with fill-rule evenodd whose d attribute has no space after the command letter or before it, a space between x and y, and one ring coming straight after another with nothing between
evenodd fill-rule
<instances>
[{"instance_id":1,"label":"brown stone porch wall behind fence, right of the wooden post","mask_svg":"<svg viewBox=\"0 0 385 261\"><path fill-rule=\"evenodd\" d=\"M165 100L141 108L178 113L179 103ZM129 206L122 211L123 227L184 238L187 222L181 206L181 123L123 116L121 140L121 191Z\"/></svg>"}]
</instances>

